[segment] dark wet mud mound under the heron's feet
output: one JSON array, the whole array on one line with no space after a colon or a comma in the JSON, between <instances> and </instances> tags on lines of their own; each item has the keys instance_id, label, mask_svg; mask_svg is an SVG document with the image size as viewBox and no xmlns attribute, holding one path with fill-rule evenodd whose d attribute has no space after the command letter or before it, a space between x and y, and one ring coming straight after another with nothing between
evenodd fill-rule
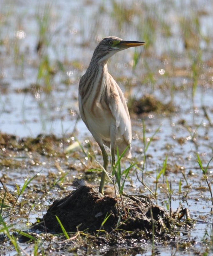
<instances>
[{"instance_id":1,"label":"dark wet mud mound under the heron's feet","mask_svg":"<svg viewBox=\"0 0 213 256\"><path fill-rule=\"evenodd\" d=\"M174 223L171 225L170 214L149 199L127 195L122 196L122 199L123 204L120 197L103 196L91 185L81 186L65 198L56 200L43 216L43 220L36 224L36 228L49 233L61 233L56 215L66 232L75 232L78 229L97 233L101 229L109 233L119 226L120 230L140 230L146 236L151 236L154 225L155 236L163 236L165 231L174 227ZM180 222L179 212L173 213L172 219L176 222ZM109 218L102 226L108 215Z\"/></svg>"}]
</instances>

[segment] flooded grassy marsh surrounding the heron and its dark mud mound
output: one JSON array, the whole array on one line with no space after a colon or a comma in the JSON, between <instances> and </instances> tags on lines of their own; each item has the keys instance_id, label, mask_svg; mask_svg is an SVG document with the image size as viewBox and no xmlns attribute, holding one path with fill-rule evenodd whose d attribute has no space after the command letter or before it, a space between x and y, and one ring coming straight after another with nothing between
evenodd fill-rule
<instances>
[{"instance_id":1,"label":"flooded grassy marsh surrounding the heron and its dark mud mound","mask_svg":"<svg viewBox=\"0 0 213 256\"><path fill-rule=\"evenodd\" d=\"M52 201L73 189L74 177L89 184L100 181L98 171L88 171L99 168L95 160L102 163L102 156L79 117L78 81L97 41L108 35L147 43L119 52L108 65L125 93L133 126L136 167L125 191L156 194L156 203L168 210L170 201L173 210L182 204L198 221L192 229L180 229L174 244L159 246L155 241L160 255L176 250L175 255L212 255L212 199L206 178L211 186L213 3L0 3L0 168L8 190L5 194L1 187L1 198L8 206L18 199L12 212L1 208L6 225L1 231L8 227L9 232L9 240L2 236L2 255L17 253L10 243L12 228L26 230L42 217ZM66 151L69 145L73 147ZM209 163L206 176L197 154L204 169ZM123 169L129 164L122 160ZM122 246L80 245L79 237L58 252L56 244L62 240L40 237L19 244L19 250L29 255L48 255L50 250L53 255L151 254L152 242L141 241L130 252Z\"/></svg>"}]
</instances>

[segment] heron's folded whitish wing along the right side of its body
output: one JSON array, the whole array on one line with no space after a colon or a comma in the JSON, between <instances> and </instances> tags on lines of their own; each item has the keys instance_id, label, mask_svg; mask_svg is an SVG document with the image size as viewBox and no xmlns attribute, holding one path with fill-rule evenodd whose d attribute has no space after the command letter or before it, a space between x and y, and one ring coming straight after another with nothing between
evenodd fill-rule
<instances>
[{"instance_id":1,"label":"heron's folded whitish wing along the right side of its body","mask_svg":"<svg viewBox=\"0 0 213 256\"><path fill-rule=\"evenodd\" d=\"M123 92L121 91L118 84L112 78L110 81L113 81L114 90L118 93L118 103L115 103L114 100L110 101L109 108L116 120L116 127L120 131L120 135L124 136L128 143L132 141L132 126L129 117L129 111L126 105L126 100L124 98Z\"/></svg>"}]
</instances>

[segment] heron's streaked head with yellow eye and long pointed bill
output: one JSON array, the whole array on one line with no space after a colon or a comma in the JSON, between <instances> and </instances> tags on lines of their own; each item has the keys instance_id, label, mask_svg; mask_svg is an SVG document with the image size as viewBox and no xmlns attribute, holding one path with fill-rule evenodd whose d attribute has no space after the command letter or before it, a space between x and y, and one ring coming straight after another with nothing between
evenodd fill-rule
<instances>
[{"instance_id":1,"label":"heron's streaked head with yellow eye and long pointed bill","mask_svg":"<svg viewBox=\"0 0 213 256\"><path fill-rule=\"evenodd\" d=\"M93 57L98 57L100 61L107 61L116 52L144 44L146 43L138 41L124 41L119 37L107 36L104 37L98 44L93 53Z\"/></svg>"}]
</instances>

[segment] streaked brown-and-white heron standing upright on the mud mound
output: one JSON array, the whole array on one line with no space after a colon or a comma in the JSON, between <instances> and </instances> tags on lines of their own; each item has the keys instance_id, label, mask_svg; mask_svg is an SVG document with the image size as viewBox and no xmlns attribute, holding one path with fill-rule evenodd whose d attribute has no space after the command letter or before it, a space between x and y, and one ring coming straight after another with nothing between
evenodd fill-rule
<instances>
[{"instance_id":1,"label":"streaked brown-and-white heron standing upright on the mud mound","mask_svg":"<svg viewBox=\"0 0 213 256\"><path fill-rule=\"evenodd\" d=\"M83 122L98 143L103 156L99 192L103 194L105 171L109 158L104 145L110 148L111 163L115 151L131 158L132 125L122 90L108 73L107 62L115 53L146 43L104 37L95 48L86 73L79 81L79 111ZM128 148L127 148L128 147Z\"/></svg>"}]
</instances>

